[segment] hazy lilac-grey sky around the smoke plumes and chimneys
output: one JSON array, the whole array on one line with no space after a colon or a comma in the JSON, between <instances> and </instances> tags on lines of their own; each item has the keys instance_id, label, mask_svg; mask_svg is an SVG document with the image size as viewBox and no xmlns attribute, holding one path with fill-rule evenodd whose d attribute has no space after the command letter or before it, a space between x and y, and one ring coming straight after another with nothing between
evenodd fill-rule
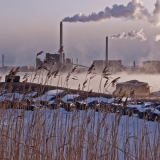
<instances>
[{"instance_id":1,"label":"hazy lilac-grey sky around the smoke plumes and chimneys","mask_svg":"<svg viewBox=\"0 0 160 160\"><path fill-rule=\"evenodd\" d=\"M156 1L142 2L152 14ZM5 65L33 65L37 52L55 53L59 49L59 23L65 17L98 13L114 4L126 6L129 2L132 0L1 0L0 56L5 54ZM66 57L78 57L82 64L105 58L106 36L142 28L147 37L144 42L139 38L109 39L109 59L121 59L124 65L131 65L134 60L139 65L145 60L160 60L160 41L154 41L160 27L145 20L110 18L63 24Z\"/></svg>"}]
</instances>

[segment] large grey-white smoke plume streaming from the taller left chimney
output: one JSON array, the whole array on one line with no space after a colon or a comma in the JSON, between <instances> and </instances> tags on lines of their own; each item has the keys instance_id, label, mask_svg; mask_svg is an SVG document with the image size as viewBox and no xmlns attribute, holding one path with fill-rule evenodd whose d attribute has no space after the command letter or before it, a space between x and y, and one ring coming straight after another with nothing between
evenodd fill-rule
<instances>
[{"instance_id":1,"label":"large grey-white smoke plume streaming from the taller left chimney","mask_svg":"<svg viewBox=\"0 0 160 160\"><path fill-rule=\"evenodd\" d=\"M91 21L101 21L110 18L123 18L125 20L145 20L154 26L160 26L160 0L157 0L155 4L155 9L153 13L145 8L140 0L132 0L124 5L113 5L112 8L106 7L104 11L99 13L91 13L89 15L76 14L73 17L66 17L63 22L91 22Z\"/></svg>"}]
</instances>

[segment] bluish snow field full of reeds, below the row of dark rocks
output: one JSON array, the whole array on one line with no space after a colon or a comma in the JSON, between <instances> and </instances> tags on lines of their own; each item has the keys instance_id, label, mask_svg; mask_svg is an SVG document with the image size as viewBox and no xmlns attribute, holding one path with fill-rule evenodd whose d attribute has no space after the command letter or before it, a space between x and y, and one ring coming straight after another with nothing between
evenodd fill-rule
<instances>
[{"instance_id":1,"label":"bluish snow field full of reeds, below the row of dark rocks","mask_svg":"<svg viewBox=\"0 0 160 160\"><path fill-rule=\"evenodd\" d=\"M67 112L63 108L46 107L34 112L1 109L0 113L0 134L19 142L17 145L11 139L5 141L5 157L9 159L16 149L21 159L29 153L29 159L43 159L46 155L48 159L84 160L159 159L160 156L159 123L139 119L136 115L119 116L91 109ZM25 146L30 147L28 152ZM39 155L36 156L31 146Z\"/></svg>"}]
</instances>

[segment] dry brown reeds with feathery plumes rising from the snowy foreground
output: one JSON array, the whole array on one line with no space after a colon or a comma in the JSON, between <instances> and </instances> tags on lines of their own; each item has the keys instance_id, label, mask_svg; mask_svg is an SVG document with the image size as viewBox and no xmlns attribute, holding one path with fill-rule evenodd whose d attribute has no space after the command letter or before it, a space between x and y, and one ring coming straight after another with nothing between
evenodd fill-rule
<instances>
[{"instance_id":1,"label":"dry brown reeds with feathery plumes rising from the snowy foreground","mask_svg":"<svg viewBox=\"0 0 160 160\"><path fill-rule=\"evenodd\" d=\"M42 54L39 52L37 56ZM46 90L42 83L50 85L55 78L56 86L60 85L60 70L53 71L56 62L46 67L47 60L31 75L30 82L38 79L38 96ZM18 69L11 70L9 77L13 80ZM42 79L44 70L47 71ZM63 87L69 87L68 81L77 80L76 66L67 74ZM88 69L86 77L77 86L89 94L90 81L96 76L94 63ZM106 92L114 86L120 77L111 79L108 66L105 66L99 82L99 92ZM103 80L105 80L104 83ZM23 77L22 84L28 81ZM21 85L22 85L21 84ZM61 84L62 85L62 84ZM12 81L1 93L12 92ZM49 90L49 88L48 88ZM31 93L31 87L14 92L22 92L24 97ZM1 94L1 96L3 93ZM133 92L131 98L134 98ZM96 112L94 106L84 110L74 109L71 112L61 108L51 109L47 105L36 103L33 111L25 110L28 102L25 98L19 101L4 99L0 108L0 159L6 160L158 160L160 159L160 123L149 122L134 116L123 116L122 113L110 113L107 109ZM122 102L123 97L117 98ZM32 98L29 99L31 101ZM134 99L133 99L134 100ZM14 103L13 103L14 101ZM124 107L127 104L123 103ZM111 105L111 104L108 104ZM24 107L24 108L23 108ZM100 105L99 105L100 107Z\"/></svg>"}]
</instances>

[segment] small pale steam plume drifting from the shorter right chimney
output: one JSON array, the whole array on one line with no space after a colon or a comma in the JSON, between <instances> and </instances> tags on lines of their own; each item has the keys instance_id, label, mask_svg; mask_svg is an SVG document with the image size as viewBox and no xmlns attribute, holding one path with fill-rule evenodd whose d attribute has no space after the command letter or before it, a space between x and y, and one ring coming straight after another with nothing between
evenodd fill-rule
<instances>
[{"instance_id":1,"label":"small pale steam plume drifting from the shorter right chimney","mask_svg":"<svg viewBox=\"0 0 160 160\"><path fill-rule=\"evenodd\" d=\"M121 33L121 34L115 34L113 36L110 36L110 38L112 39L136 39L136 38L140 38L141 41L146 41L147 37L143 31L143 29L139 30L139 31L131 31L128 33Z\"/></svg>"}]
</instances>

